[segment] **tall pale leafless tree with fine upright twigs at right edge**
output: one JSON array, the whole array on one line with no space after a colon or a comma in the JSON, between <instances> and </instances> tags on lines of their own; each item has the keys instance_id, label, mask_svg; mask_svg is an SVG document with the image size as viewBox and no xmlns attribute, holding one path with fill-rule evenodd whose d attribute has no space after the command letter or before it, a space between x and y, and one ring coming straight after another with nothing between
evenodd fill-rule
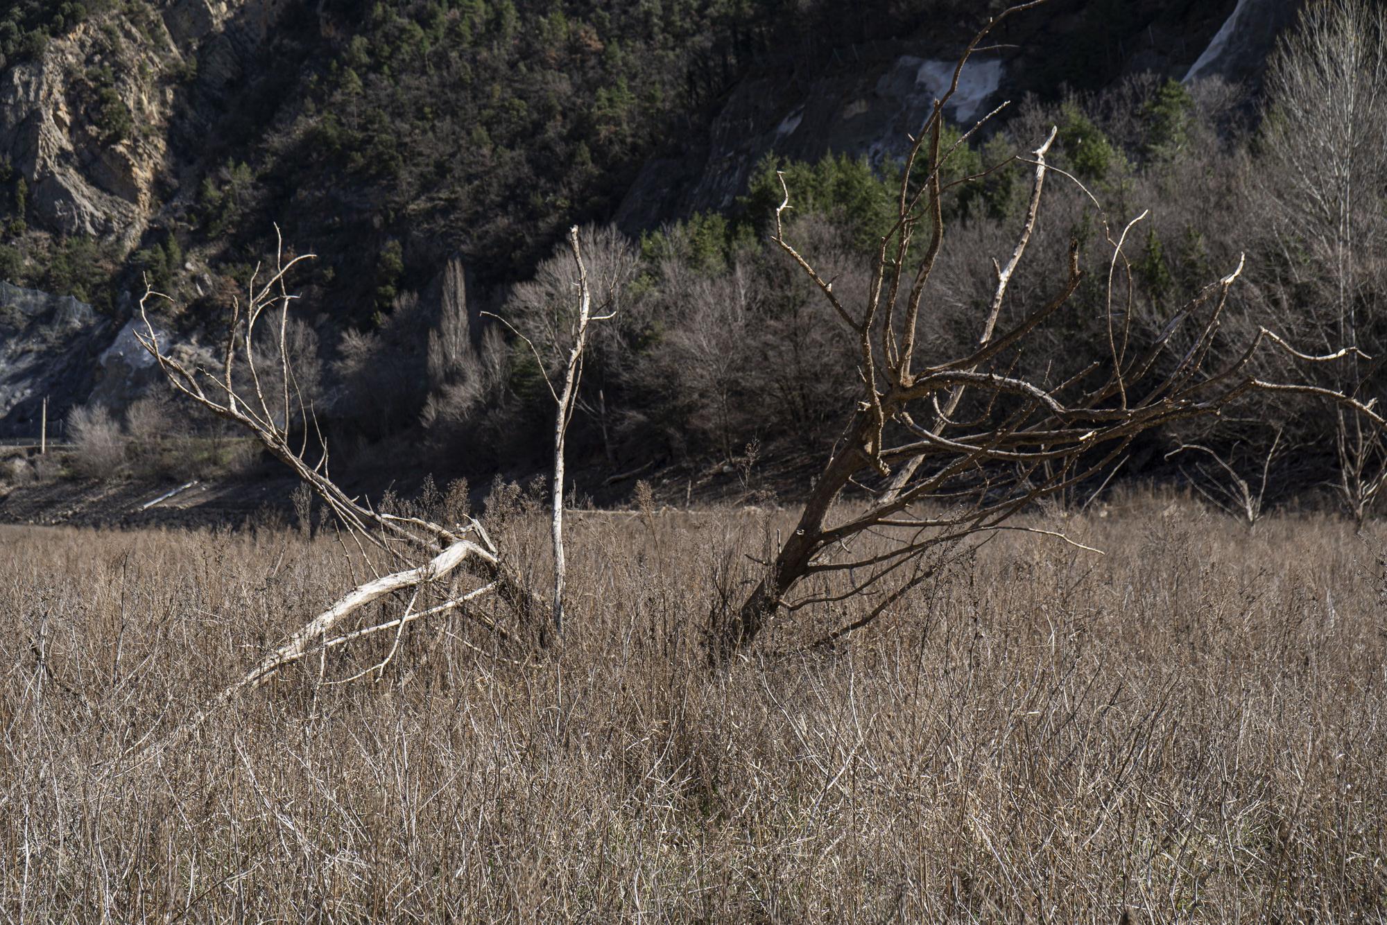
<instances>
[{"instance_id":1,"label":"tall pale leafless tree with fine upright twigs at right edge","mask_svg":"<svg viewBox=\"0 0 1387 925\"><path fill-rule=\"evenodd\" d=\"M1380 4L1307 4L1266 76L1258 178L1291 290L1284 327L1325 352L1348 349L1319 381L1372 405L1387 354L1387 18ZM1370 359L1372 358L1372 359ZM1370 417L1336 409L1337 490L1361 524L1387 485L1387 444Z\"/></svg>"}]
</instances>

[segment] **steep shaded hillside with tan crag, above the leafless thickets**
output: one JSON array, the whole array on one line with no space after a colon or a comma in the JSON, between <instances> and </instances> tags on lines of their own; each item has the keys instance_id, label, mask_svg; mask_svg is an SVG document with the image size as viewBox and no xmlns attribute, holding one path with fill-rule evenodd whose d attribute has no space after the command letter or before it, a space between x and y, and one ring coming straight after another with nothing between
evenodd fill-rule
<instances>
[{"instance_id":1,"label":"steep shaded hillside with tan crag, above the leafless thickets","mask_svg":"<svg viewBox=\"0 0 1387 925\"><path fill-rule=\"evenodd\" d=\"M21 39L0 75L0 276L119 312L148 272L211 306L279 222L325 257L325 305L358 323L455 254L508 282L571 222L620 214L639 230L725 205L771 147L895 150L925 96L902 68L951 57L983 12L956 0L71 6L7 14ZM1254 6L1276 24L1297 4ZM1180 76L1232 7L1057 0L1004 36L1019 49L1000 55L1000 94ZM1268 47L1243 50L1239 76ZM796 130L777 133L786 119Z\"/></svg>"}]
</instances>

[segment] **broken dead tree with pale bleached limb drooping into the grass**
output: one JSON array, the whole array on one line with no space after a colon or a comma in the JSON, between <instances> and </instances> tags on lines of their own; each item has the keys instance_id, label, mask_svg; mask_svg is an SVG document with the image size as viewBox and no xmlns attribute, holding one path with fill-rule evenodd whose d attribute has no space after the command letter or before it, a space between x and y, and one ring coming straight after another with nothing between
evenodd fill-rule
<instances>
[{"instance_id":1,"label":"broken dead tree with pale bleached limb drooping into the grass","mask_svg":"<svg viewBox=\"0 0 1387 925\"><path fill-rule=\"evenodd\" d=\"M490 637L522 646L538 641L548 620L544 600L526 587L520 571L501 557L479 520L440 524L423 517L376 510L366 501L348 496L333 480L327 441L318 427L313 408L304 399L284 349L291 320L290 305L297 298L290 294L286 277L294 266L312 257L304 254L286 259L280 243L275 266L264 276L261 268L255 269L244 304L240 300L233 302L230 326L215 370L194 361L179 359L168 344L160 343L148 318L148 305L151 300L168 300L166 295L148 288L140 300L144 330L137 336L173 388L241 427L287 465L336 516L336 521L361 553L361 563L373 573L370 580L347 592L294 632L286 643L265 655L237 682L204 704L180 728L180 735L200 724L236 692L265 682L282 667L347 641L393 628L397 635L391 655L386 659L388 663L405 625L424 616L463 609ZM277 343L269 363L259 352L266 341L257 336L258 326L266 319ZM329 638L363 606L394 592L411 595L404 616ZM429 596L424 596L426 592ZM513 623L499 625L467 610L465 605L481 595L499 596L513 614ZM422 599L427 603L430 598L431 605L416 610ZM376 668L383 668L384 664Z\"/></svg>"}]
</instances>

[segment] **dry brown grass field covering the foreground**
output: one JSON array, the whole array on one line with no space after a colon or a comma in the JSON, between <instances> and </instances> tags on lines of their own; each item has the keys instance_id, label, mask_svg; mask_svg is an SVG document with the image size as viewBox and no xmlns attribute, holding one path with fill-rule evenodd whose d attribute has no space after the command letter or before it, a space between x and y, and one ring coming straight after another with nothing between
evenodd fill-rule
<instances>
[{"instance_id":1,"label":"dry brown grass field covering the foreground","mask_svg":"<svg viewBox=\"0 0 1387 925\"><path fill-rule=\"evenodd\" d=\"M334 682L390 634L164 752L354 584L338 546L0 528L0 913L1387 918L1380 527L1136 499L1069 524L1105 555L999 535L831 650L781 631L710 670L782 520L576 515L560 652L419 621L383 671Z\"/></svg>"}]
</instances>

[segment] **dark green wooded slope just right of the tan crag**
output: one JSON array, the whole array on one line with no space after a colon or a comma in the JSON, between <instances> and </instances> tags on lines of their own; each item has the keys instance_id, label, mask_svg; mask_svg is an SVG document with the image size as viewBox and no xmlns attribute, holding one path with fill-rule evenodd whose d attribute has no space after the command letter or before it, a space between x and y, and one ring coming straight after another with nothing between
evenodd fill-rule
<instances>
[{"instance_id":1,"label":"dark green wooded slope just right of the tan crag","mask_svg":"<svg viewBox=\"0 0 1387 925\"><path fill-rule=\"evenodd\" d=\"M388 312L399 288L458 252L484 277L513 280L573 221L610 216L642 159L705 126L750 68L802 67L835 43L927 19L958 32L968 4L915 0L860 17L829 3L738 0L248 1L227 4L221 24L232 50L215 32L165 28L189 6L21 3L6 14L0 69L80 53L57 67L90 123L89 154L136 135L132 94L168 94L168 125L139 130L166 135L178 168L154 191L164 205L139 252L97 254L90 234L64 234L61 222L37 223L55 239L24 234L35 178L12 150L0 178L10 282L114 305L132 270L189 282L182 258L194 250L216 275L237 276L272 240L272 222L325 255L318 283L347 309L337 323ZM94 40L80 37L83 25ZM144 54L153 68L137 67ZM108 276L64 265L74 262L104 262Z\"/></svg>"}]
</instances>

